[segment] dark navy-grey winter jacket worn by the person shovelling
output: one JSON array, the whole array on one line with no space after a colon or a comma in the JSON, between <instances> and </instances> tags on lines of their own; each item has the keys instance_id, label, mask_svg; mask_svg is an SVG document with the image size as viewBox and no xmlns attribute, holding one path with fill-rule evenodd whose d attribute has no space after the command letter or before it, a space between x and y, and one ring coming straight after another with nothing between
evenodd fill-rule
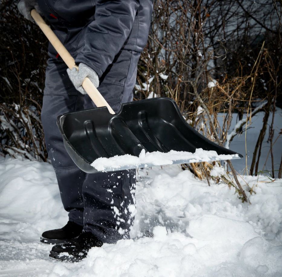
<instances>
[{"instance_id":1,"label":"dark navy-grey winter jacket worn by the person shovelling","mask_svg":"<svg viewBox=\"0 0 282 277\"><path fill-rule=\"evenodd\" d=\"M153 0L38 0L38 4L76 55L76 63L88 65L99 77L121 49L142 52L147 43Z\"/></svg>"}]
</instances>

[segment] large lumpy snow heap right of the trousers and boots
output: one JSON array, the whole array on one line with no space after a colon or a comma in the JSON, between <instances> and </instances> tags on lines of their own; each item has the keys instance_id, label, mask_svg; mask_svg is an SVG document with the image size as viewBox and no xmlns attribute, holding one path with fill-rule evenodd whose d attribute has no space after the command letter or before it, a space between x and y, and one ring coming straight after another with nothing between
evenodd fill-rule
<instances>
[{"instance_id":1,"label":"large lumpy snow heap right of the trousers and boots","mask_svg":"<svg viewBox=\"0 0 282 277\"><path fill-rule=\"evenodd\" d=\"M251 186L257 185L250 201L255 203L259 196L258 208L256 204L242 204L225 185L208 187L178 166L139 173L137 215L131 237L147 230L154 233L154 238L92 248L84 261L55 266L51 276L282 274L281 180L247 178ZM275 204L266 209L261 198L268 202L270 194ZM271 210L278 211L272 220ZM267 239L269 235L276 239Z\"/></svg>"}]
</instances>

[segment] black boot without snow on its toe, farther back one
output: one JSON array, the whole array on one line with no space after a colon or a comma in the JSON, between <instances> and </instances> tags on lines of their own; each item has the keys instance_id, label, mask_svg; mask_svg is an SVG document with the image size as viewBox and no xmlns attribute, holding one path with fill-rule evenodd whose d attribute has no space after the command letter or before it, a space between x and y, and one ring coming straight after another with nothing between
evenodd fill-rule
<instances>
[{"instance_id":1,"label":"black boot without snow on its toe, farther back one","mask_svg":"<svg viewBox=\"0 0 282 277\"><path fill-rule=\"evenodd\" d=\"M83 226L68 221L68 223L61 229L45 231L41 235L40 241L48 244L67 242L82 234L82 230Z\"/></svg>"}]
</instances>

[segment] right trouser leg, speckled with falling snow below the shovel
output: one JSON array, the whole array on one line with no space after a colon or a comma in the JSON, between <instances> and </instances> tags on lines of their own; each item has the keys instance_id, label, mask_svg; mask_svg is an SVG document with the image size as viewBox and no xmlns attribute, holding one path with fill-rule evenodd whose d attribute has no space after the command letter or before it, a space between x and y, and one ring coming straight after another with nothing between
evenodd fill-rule
<instances>
[{"instance_id":1,"label":"right trouser leg, speckled with falling snow below the shovel","mask_svg":"<svg viewBox=\"0 0 282 277\"><path fill-rule=\"evenodd\" d=\"M140 53L122 50L100 78L99 91L117 112L132 101ZM88 96L84 108L94 105ZM84 230L105 243L128 238L135 215L135 169L87 174L83 183Z\"/></svg>"}]
</instances>

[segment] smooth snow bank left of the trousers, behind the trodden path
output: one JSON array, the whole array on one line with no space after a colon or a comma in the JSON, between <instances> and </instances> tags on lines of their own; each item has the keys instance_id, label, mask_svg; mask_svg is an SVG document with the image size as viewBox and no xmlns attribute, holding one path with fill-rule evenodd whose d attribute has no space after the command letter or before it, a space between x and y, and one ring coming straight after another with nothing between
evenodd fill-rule
<instances>
[{"instance_id":1,"label":"smooth snow bank left of the trousers, behind the trodden path","mask_svg":"<svg viewBox=\"0 0 282 277\"><path fill-rule=\"evenodd\" d=\"M57 180L49 163L11 158L5 159L5 163L3 159L0 161L1 218L15 227L6 233L0 225L1 238L13 236L24 238L25 242L27 238L33 241L38 231L49 226L47 221L52 227L57 221L64 222L66 216L62 216ZM28 225L21 223L23 217ZM20 233L15 231L17 228L21 229Z\"/></svg>"}]
</instances>

